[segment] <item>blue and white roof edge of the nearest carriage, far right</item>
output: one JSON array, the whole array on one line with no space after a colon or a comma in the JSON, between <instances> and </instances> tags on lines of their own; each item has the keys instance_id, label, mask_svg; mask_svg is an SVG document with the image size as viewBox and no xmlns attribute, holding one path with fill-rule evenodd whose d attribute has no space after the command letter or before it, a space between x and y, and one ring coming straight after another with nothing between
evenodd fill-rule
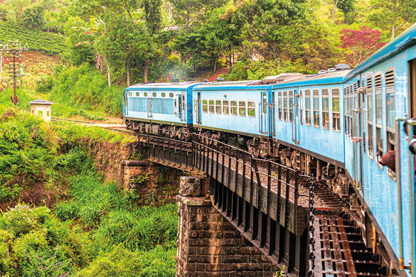
<instances>
[{"instance_id":1,"label":"blue and white roof edge of the nearest carriage, far right","mask_svg":"<svg viewBox=\"0 0 416 277\"><path fill-rule=\"evenodd\" d=\"M363 63L358 65L353 69L348 75L346 75L346 80L350 80L354 76L368 70L370 67L378 65L383 61L391 58L398 53L402 52L406 48L409 48L411 45L416 43L416 23L412 27L408 28L406 31L400 34L397 38L390 41L390 43L384 45L383 48L375 52Z\"/></svg>"}]
</instances>

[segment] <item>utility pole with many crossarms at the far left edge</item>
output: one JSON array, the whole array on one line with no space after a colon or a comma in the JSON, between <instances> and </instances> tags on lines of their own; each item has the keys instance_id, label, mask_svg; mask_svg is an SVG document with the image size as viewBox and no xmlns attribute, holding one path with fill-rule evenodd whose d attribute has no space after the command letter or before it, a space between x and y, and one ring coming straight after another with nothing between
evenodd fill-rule
<instances>
[{"instance_id":1,"label":"utility pole with many crossarms at the far left edge","mask_svg":"<svg viewBox=\"0 0 416 277\"><path fill-rule=\"evenodd\" d=\"M8 73L13 77L13 91L14 95L11 96L11 102L15 106L17 106L18 98L16 94L17 89L17 81L21 77L21 64L22 64L22 53L24 50L27 50L27 45L22 45L18 40L16 41L10 41L6 45L0 45L1 48L1 54L0 54L0 63L2 66L3 62L3 56L6 57L6 62L9 63L9 71ZM6 52L4 54L4 52ZM0 67L0 74L1 74L1 67ZM1 77L0 77L1 80Z\"/></svg>"}]
</instances>

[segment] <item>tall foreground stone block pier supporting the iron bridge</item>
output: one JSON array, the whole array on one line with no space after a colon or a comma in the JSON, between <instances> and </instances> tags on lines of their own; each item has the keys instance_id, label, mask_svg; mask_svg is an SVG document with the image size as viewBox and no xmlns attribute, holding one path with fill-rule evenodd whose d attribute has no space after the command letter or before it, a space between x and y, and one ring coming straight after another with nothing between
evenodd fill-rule
<instances>
[{"instance_id":1,"label":"tall foreground stone block pier supporting the iron bridge","mask_svg":"<svg viewBox=\"0 0 416 277\"><path fill-rule=\"evenodd\" d=\"M181 177L176 276L274 276L279 271L213 207L209 179Z\"/></svg>"}]
</instances>

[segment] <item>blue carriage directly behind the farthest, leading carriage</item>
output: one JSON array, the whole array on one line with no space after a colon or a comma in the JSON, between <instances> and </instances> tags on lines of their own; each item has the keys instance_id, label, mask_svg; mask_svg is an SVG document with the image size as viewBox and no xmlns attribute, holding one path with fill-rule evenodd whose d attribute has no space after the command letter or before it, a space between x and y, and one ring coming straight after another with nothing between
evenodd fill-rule
<instances>
[{"instance_id":1,"label":"blue carriage directly behind the farthest, leading carriage","mask_svg":"<svg viewBox=\"0 0 416 277\"><path fill-rule=\"evenodd\" d=\"M268 139L270 85L260 81L208 82L193 88L193 126L206 136L240 146Z\"/></svg>"}]
</instances>

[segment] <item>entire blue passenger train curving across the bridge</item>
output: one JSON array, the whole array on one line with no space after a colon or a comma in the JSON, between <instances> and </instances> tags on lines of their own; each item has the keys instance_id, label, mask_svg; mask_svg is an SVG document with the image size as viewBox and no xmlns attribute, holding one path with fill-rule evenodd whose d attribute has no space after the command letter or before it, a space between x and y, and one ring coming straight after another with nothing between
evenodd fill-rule
<instances>
[{"instance_id":1,"label":"entire blue passenger train curving across the bridge","mask_svg":"<svg viewBox=\"0 0 416 277\"><path fill-rule=\"evenodd\" d=\"M123 100L139 134L196 132L324 180L358 214L366 246L416 276L416 25L352 70L138 84Z\"/></svg>"}]
</instances>

